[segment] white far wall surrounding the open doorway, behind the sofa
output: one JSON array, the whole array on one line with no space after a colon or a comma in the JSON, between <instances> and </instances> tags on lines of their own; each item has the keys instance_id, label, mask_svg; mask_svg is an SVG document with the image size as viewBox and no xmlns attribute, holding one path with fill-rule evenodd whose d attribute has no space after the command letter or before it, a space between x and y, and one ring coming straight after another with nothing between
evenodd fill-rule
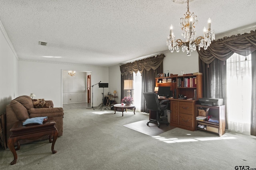
<instances>
[{"instance_id":1,"label":"white far wall surrounding the open doorway, behind the sofa","mask_svg":"<svg viewBox=\"0 0 256 170\"><path fill-rule=\"evenodd\" d=\"M35 98L52 100L54 107L62 107L62 70L92 72L92 85L100 81L108 83L108 67L18 61L18 95L34 93ZM93 102L94 106L102 102L102 88L98 85L94 86Z\"/></svg>"}]
</instances>

